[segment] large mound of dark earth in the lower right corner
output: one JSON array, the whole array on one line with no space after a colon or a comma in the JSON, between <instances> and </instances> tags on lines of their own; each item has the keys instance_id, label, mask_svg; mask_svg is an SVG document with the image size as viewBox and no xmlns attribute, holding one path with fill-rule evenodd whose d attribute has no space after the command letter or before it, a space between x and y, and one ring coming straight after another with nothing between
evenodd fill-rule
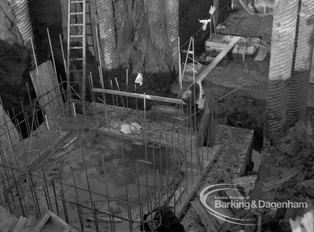
<instances>
[{"instance_id":1,"label":"large mound of dark earth in the lower right corner","mask_svg":"<svg viewBox=\"0 0 314 232\"><path fill-rule=\"evenodd\" d=\"M298 121L287 136L276 147L263 151L262 163L250 201L265 203L302 203L307 207L283 208L263 207L242 209L236 218L252 219L261 217L263 231L290 231L289 218L295 220L314 208L314 136L311 127L313 114L306 120ZM244 221L243 221L244 222ZM247 223L247 222L246 222ZM257 225L243 226L224 224L221 231L255 231Z\"/></svg>"}]
</instances>

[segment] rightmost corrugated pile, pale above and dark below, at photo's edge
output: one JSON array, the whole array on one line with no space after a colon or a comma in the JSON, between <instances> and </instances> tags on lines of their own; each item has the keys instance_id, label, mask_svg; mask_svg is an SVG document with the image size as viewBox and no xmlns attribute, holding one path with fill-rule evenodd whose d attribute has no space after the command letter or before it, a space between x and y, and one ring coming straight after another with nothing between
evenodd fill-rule
<instances>
[{"instance_id":1,"label":"rightmost corrugated pile, pale above and dark below, at photo's edge","mask_svg":"<svg viewBox=\"0 0 314 232\"><path fill-rule=\"evenodd\" d=\"M305 117L314 39L314 1L299 0L286 121L293 125Z\"/></svg>"}]
</instances>

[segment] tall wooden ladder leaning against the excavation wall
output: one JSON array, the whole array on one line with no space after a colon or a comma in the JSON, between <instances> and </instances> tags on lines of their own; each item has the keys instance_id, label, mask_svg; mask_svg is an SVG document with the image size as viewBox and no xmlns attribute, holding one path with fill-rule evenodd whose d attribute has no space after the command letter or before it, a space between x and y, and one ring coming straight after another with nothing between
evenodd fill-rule
<instances>
[{"instance_id":1,"label":"tall wooden ladder leaning against the excavation wall","mask_svg":"<svg viewBox=\"0 0 314 232\"><path fill-rule=\"evenodd\" d=\"M73 43L78 45L73 45ZM79 57L73 57L73 50L77 50ZM72 51L72 54L71 54ZM81 99L86 96L86 0L68 0L68 57L67 57L68 84L82 86ZM76 69L76 66L79 69ZM76 81L70 81L71 76ZM71 94L71 89L68 89ZM71 94L72 95L72 94ZM72 97L72 96L71 96Z\"/></svg>"}]
</instances>

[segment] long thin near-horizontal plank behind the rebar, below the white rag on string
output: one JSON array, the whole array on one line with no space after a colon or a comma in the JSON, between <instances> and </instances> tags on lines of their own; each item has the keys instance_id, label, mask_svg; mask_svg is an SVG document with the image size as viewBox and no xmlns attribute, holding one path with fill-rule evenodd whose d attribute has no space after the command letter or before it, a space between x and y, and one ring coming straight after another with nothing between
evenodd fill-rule
<instances>
[{"instance_id":1,"label":"long thin near-horizontal plank behind the rebar, below the white rag on string","mask_svg":"<svg viewBox=\"0 0 314 232\"><path fill-rule=\"evenodd\" d=\"M100 89L100 88L92 88L92 91L93 92L101 92L101 93L118 94L118 95L127 96L127 97L144 99L144 94L140 94L140 93L131 93L131 92L123 92L123 91L110 90L110 89ZM152 95L146 95L146 94L145 94L145 99L155 100L155 101L160 101L160 102L183 104L183 105L186 104L186 103L182 102L180 99L165 98L165 97L152 96Z\"/></svg>"}]
</instances>

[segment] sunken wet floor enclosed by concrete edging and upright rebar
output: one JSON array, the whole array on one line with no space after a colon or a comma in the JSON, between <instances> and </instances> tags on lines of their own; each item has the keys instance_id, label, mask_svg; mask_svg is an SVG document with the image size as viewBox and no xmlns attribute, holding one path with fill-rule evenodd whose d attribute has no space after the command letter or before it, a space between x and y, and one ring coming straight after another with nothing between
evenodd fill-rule
<instances>
[{"instance_id":1,"label":"sunken wet floor enclosed by concrete edging and upright rebar","mask_svg":"<svg viewBox=\"0 0 314 232\"><path fill-rule=\"evenodd\" d=\"M50 196L53 196L55 191L57 198L61 197L60 172L64 198L69 201L75 201L74 198L76 197L79 203L87 207L81 208L84 221L93 217L93 212L90 211L89 208L94 207L91 204L91 198L95 203L95 208L98 210L111 212L112 207L112 212L127 217L129 207L131 207L132 210L136 210L136 208L140 206L136 163L137 160L141 160L138 161L138 181L142 201L145 201L144 203L147 204L147 199L149 199L149 201L151 200L153 205L155 205L155 199L158 198L158 183L161 182L163 182L163 184L160 185L163 186L162 192L169 194L169 198L171 197L171 190L168 189L168 192L166 191L165 183L173 183L174 173L176 178L179 173L181 174L181 172L178 171L179 154L181 155L181 153L177 149L159 146L157 142L154 144L155 149L153 149L152 145L149 144L150 147L147 147L146 159L145 147L135 145L136 143L133 143L132 140L121 139L119 138L119 134L113 137L106 134L97 134L97 132L100 131L87 128L81 129L79 133L80 138L77 138L69 144L69 141L78 137L78 134L72 131L57 143L59 147L55 150L55 155L57 157L59 171L56 167L53 153L49 154L46 158L42 157ZM80 142L82 143L82 147L80 146ZM63 149L64 146L66 146L65 149ZM84 161L81 149L83 150ZM151 164L142 162L145 160ZM38 166L40 162L37 160L35 163L37 163ZM36 170L36 168L33 167L33 170ZM159 171L158 174L157 171ZM106 177L104 175L105 172ZM46 191L44 190L45 183L43 178L39 177L42 176L41 168L34 171L32 174L37 176L32 177L35 183L35 191L42 192L43 194L38 194L40 208L47 208L44 192ZM159 175L159 182L157 175ZM54 180L55 190L53 189L51 179ZM89 189L90 192L88 191ZM159 194L162 194L161 191ZM109 196L109 198L107 196ZM158 201L158 199L156 200ZM57 208L54 199L51 198L50 201L52 210L56 211ZM59 215L65 218L62 202L58 201L57 204ZM77 207L74 205L75 204L68 202L65 204L68 221L78 224ZM100 213L98 217L108 217L108 215Z\"/></svg>"}]
</instances>

